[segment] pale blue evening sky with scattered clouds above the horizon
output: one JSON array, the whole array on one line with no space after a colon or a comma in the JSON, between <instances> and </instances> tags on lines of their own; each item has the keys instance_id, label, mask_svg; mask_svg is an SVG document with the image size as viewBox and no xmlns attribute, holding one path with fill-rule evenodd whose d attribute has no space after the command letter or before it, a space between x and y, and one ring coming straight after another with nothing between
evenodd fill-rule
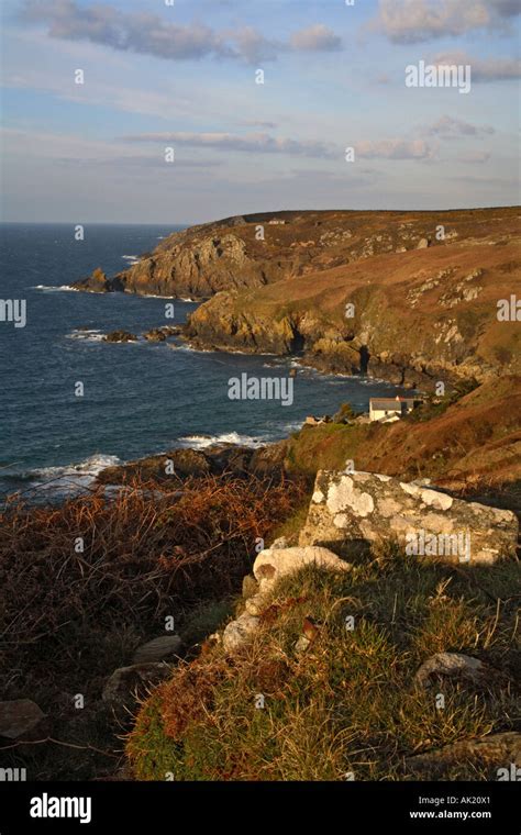
<instances>
[{"instance_id":1,"label":"pale blue evening sky with scattered clouds above the horizon","mask_svg":"<svg viewBox=\"0 0 521 835\"><path fill-rule=\"evenodd\" d=\"M520 10L3 0L1 218L518 203ZM420 62L470 67L469 91L407 86Z\"/></svg>"}]
</instances>

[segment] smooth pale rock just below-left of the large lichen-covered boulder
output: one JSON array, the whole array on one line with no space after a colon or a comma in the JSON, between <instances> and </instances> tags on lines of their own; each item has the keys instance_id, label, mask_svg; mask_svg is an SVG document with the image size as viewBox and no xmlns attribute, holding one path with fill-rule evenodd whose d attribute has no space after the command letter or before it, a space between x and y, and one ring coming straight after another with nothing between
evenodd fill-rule
<instances>
[{"instance_id":1,"label":"smooth pale rock just below-left of the large lichen-covered boulder","mask_svg":"<svg viewBox=\"0 0 521 835\"><path fill-rule=\"evenodd\" d=\"M348 571L351 565L328 548L295 547L267 548L256 558L253 572L258 580L260 592L265 594L286 575L293 574L307 565L317 565L335 571Z\"/></svg>"}]
</instances>

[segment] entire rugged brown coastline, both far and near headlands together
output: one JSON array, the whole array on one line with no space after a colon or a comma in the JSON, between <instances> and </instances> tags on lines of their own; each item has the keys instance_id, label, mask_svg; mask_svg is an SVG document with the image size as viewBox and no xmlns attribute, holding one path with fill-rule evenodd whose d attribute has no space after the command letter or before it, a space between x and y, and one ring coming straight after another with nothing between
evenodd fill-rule
<instances>
[{"instance_id":1,"label":"entire rugged brown coastline, both far and near headlands together","mask_svg":"<svg viewBox=\"0 0 521 835\"><path fill-rule=\"evenodd\" d=\"M519 323L497 318L520 286L519 243L516 208L279 212L174 233L74 286L207 299L187 325L196 346L429 386L520 370Z\"/></svg>"}]
</instances>

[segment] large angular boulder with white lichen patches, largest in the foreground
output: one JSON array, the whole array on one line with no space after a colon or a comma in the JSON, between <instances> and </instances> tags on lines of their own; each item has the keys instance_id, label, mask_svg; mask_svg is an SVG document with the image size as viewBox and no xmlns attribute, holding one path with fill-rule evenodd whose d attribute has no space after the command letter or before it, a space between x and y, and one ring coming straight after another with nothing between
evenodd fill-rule
<instances>
[{"instance_id":1,"label":"large angular boulder with white lichen patches, largest in the foreground","mask_svg":"<svg viewBox=\"0 0 521 835\"><path fill-rule=\"evenodd\" d=\"M380 474L319 470L299 544L344 555L395 538L410 556L492 564L516 555L518 532L508 510Z\"/></svg>"}]
</instances>

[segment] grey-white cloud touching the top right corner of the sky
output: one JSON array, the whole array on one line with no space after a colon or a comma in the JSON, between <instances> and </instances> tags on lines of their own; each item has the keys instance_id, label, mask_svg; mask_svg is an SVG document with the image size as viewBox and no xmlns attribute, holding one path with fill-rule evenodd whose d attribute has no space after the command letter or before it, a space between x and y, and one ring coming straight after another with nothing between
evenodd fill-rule
<instances>
[{"instance_id":1,"label":"grey-white cloud touching the top right corner of the sky","mask_svg":"<svg viewBox=\"0 0 521 835\"><path fill-rule=\"evenodd\" d=\"M518 0L379 0L370 27L398 44L458 36L475 30L508 31Z\"/></svg>"}]
</instances>

